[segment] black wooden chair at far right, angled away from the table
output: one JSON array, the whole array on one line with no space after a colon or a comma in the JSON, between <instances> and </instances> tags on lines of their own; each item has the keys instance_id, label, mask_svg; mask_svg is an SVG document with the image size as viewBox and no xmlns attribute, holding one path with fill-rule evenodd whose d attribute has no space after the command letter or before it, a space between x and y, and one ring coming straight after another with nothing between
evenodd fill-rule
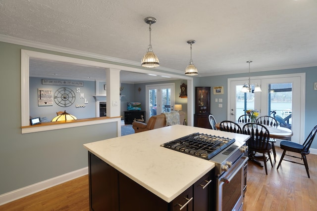
<instances>
[{"instance_id":1,"label":"black wooden chair at far right, angled away from the table","mask_svg":"<svg viewBox=\"0 0 317 211\"><path fill-rule=\"evenodd\" d=\"M299 158L299 159L304 161L304 164L298 163L298 162L294 162L294 161L289 161L289 162L292 162L292 163L295 163L295 164L304 165L305 169L306 169L306 172L307 172L307 175L308 175L308 178L311 178L310 175L309 175L309 171L308 171L309 168L308 168L306 155L308 155L310 153L309 148L311 147L311 145L313 143L313 140L315 138L316 133L317 133L317 125L312 129L311 133L307 136L307 138L306 138L305 142L303 143L303 145L295 143L295 142L292 142L292 141L281 141L280 147L284 151L283 151L281 160L278 163L277 169L279 168L279 166L281 165L283 160L284 161L289 161L289 160L284 159L284 156L286 155L287 151L299 153L299 154L301 154L301 157L297 157L297 156L293 156L293 155L287 155L287 156L290 156L290 157L293 157L293 158Z\"/></svg>"}]
</instances>

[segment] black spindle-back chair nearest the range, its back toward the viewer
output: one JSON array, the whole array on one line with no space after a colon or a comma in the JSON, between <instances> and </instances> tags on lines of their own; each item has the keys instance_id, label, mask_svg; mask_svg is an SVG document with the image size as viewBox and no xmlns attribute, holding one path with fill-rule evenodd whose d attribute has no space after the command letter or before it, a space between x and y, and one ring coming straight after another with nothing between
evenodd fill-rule
<instances>
[{"instance_id":1,"label":"black spindle-back chair nearest the range, its back toward the viewer","mask_svg":"<svg viewBox=\"0 0 317 211\"><path fill-rule=\"evenodd\" d=\"M249 151L251 152L249 155L249 159L256 163L258 162L255 160L263 161L265 173L267 175L266 162L268 160L270 161L271 166L273 167L270 155L272 145L269 143L268 129L259 123L247 123L242 127L242 132L243 134L250 135L250 139L248 140ZM256 156L257 152L261 153L262 156ZM268 156L268 159L265 155Z\"/></svg>"}]
</instances>

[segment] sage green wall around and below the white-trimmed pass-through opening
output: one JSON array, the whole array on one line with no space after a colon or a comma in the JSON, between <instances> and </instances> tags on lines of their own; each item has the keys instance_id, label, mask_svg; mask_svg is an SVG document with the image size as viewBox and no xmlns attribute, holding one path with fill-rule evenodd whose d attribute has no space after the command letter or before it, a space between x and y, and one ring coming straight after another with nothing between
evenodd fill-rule
<instances>
[{"instance_id":1,"label":"sage green wall around and below the white-trimmed pass-through opening","mask_svg":"<svg viewBox=\"0 0 317 211\"><path fill-rule=\"evenodd\" d=\"M116 123L21 134L21 49L65 55L0 42L0 195L87 167L83 144L117 134Z\"/></svg>"}]
</instances>

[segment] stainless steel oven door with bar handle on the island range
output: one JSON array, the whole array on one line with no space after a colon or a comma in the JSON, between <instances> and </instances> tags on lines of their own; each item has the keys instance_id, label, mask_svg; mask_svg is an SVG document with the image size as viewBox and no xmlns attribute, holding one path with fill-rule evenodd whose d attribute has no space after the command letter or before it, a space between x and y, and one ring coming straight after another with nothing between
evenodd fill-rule
<instances>
[{"instance_id":1,"label":"stainless steel oven door with bar handle on the island range","mask_svg":"<svg viewBox=\"0 0 317 211\"><path fill-rule=\"evenodd\" d=\"M217 180L217 211L242 211L244 169L248 157L242 156Z\"/></svg>"}]
</instances>

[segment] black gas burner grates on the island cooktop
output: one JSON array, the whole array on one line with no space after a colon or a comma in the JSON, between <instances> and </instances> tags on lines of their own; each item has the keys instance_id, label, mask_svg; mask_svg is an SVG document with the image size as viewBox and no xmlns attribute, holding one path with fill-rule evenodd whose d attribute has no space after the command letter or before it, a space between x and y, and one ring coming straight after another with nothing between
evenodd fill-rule
<instances>
[{"instance_id":1,"label":"black gas burner grates on the island cooktop","mask_svg":"<svg viewBox=\"0 0 317 211\"><path fill-rule=\"evenodd\" d=\"M233 142L235 139L196 132L161 144L161 146L210 160Z\"/></svg>"}]
</instances>

